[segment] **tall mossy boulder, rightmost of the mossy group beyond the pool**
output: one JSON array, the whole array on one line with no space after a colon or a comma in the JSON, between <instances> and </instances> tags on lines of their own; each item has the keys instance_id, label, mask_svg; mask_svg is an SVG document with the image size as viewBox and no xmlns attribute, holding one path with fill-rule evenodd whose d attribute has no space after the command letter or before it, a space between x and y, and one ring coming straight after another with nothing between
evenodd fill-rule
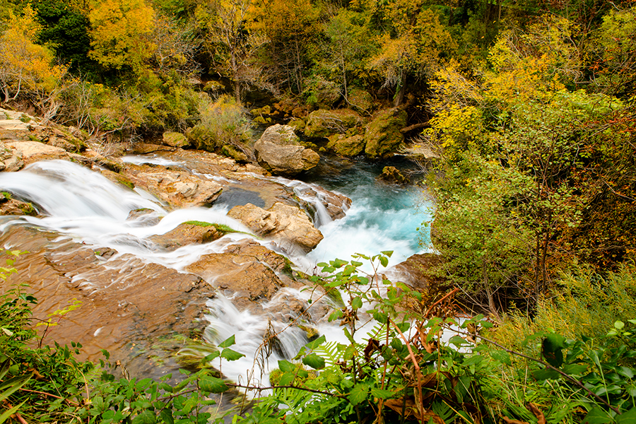
<instances>
[{"instance_id":1,"label":"tall mossy boulder, rightmost of the mossy group beyond the pool","mask_svg":"<svg viewBox=\"0 0 636 424\"><path fill-rule=\"evenodd\" d=\"M367 124L365 153L375 159L394 152L404 142L400 129L406 126L406 112L399 108L383 110Z\"/></svg>"}]
</instances>

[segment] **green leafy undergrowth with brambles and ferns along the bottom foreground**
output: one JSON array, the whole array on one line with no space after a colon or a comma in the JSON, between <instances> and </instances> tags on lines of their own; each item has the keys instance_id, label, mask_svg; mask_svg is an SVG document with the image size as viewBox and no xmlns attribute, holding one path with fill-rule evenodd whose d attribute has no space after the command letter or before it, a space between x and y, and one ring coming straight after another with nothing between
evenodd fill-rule
<instances>
[{"instance_id":1,"label":"green leafy undergrowth with brambles and ferns along the bottom foreground","mask_svg":"<svg viewBox=\"0 0 636 424\"><path fill-rule=\"evenodd\" d=\"M0 277L15 272L18 253L8 252ZM242 356L232 350L234 336L204 353L199 371L181 370L178 383L170 383L171 376L131 379L121 365L107 362L107 353L100 364L78 361L77 343L42 347L44 335L36 333L30 312L36 300L24 286L13 286L0 295L0 423L218 423L223 417L211 395L235 388L252 391L255 399L232 423L636 422L636 319L611 322L608 315L594 331L571 325L575 331L563 334L548 326L514 333L511 328L521 327L505 323L501 331L516 339L502 343L490 339L493 324L483 316L457 317L456 291L429 302L403 283L360 271L358 260L377 269L390 254L319 264L322 276L313 279L326 291L346 294L329 317L339 322L346 342L320 336L306 343L295 357L278 361L270 387L235 384L206 366ZM572 292L565 290L552 312L539 314L544 321L536 326L547 325L547 317L574 317L566 311L571 302L596 299L601 305L611 298L603 294L610 292L584 295L589 288L623 293L621 287L631 286L628 275L625 269L602 280L591 273L564 278ZM618 311L620 317L630 312ZM515 319L518 324L521 317Z\"/></svg>"}]
</instances>

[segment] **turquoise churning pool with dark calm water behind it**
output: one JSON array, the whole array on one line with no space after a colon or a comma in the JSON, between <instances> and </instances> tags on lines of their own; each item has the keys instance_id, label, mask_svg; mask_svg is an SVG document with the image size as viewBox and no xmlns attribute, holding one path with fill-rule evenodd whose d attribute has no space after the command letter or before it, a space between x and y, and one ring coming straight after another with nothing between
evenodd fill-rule
<instances>
[{"instance_id":1,"label":"turquoise churning pool with dark calm water behind it","mask_svg":"<svg viewBox=\"0 0 636 424\"><path fill-rule=\"evenodd\" d=\"M398 164L396 164L398 165ZM403 164L402 164L403 165ZM358 161L323 158L307 180L341 192L353 201L346 217L323 225L324 240L307 255L312 261L350 260L355 253L372 256L393 251L391 265L430 250L428 232L420 232L430 218L416 186L401 187L377 179L382 167ZM367 269L368 271L368 269Z\"/></svg>"}]
</instances>

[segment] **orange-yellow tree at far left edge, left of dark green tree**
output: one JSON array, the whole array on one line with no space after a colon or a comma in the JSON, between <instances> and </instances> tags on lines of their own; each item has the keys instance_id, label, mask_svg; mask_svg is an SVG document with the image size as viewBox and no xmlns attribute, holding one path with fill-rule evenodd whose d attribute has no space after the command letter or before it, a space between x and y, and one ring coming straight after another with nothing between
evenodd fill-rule
<instances>
[{"instance_id":1,"label":"orange-yellow tree at far left edge, left of dark green tree","mask_svg":"<svg viewBox=\"0 0 636 424\"><path fill-rule=\"evenodd\" d=\"M54 64L54 54L35 44L40 30L30 6L23 16L11 13L8 28L0 35L0 90L4 102L15 100L20 93L49 92L66 72L65 66Z\"/></svg>"}]
</instances>

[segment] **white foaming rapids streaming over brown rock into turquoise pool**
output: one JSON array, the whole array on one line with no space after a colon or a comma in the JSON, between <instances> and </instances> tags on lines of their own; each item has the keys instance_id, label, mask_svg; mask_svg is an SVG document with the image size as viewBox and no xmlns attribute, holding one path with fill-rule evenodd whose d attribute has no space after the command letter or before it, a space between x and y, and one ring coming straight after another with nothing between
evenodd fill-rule
<instances>
[{"instance_id":1,"label":"white foaming rapids streaming over brown rock into turquoise pool","mask_svg":"<svg viewBox=\"0 0 636 424\"><path fill-rule=\"evenodd\" d=\"M166 163L159 158L129 157L126 160L136 163L154 160L158 165L179 165ZM348 187L349 192L345 190L346 187L342 187L341 191L353 199L353 205L345 218L331 221L329 214L324 211L322 202L307 195L307 189L312 187L310 184L283 178L274 180L292 187L295 194L314 204L316 208L314 225L322 231L324 240L307 257L290 257L295 266L302 271L311 273L318 261L329 261L336 257L348 260L354 253L373 255L381 250L393 250L391 265L394 265L411 254L423 251L417 242L413 241L418 237L416 227L426 219L425 216L414 212L414 205L419 199L416 193L384 184L384 194L380 194L381 189L370 189L372 184L375 184L373 182L351 183L351 187ZM98 172L62 160L38 162L20 172L0 172L0 190L10 192L18 199L33 202L43 216L0 217L0 232L4 232L11 225L33 225L58 232L61 237L71 237L91 248L110 247L117 251L111 259L131 254L146 262L183 271L184 267L197 261L204 254L223 252L233 242L252 237L242 223L226 216L227 206L186 208L168 213L162 202L150 194L126 189L110 182ZM380 199L380 196L388 199ZM387 204L387 201L390 204ZM129 213L139 208L148 208L153 212L139 218L129 218ZM172 252L157 249L154 243L148 240L148 237L163 235L188 220L225 224L248 234L232 233L214 242L187 245ZM266 240L257 241L273 249ZM11 246L6 245L4 248L9 249ZM283 288L269 302L262 305L262 309L265 312L275 310L276 305L281 302L300 301L307 304L312 295L317 298L319 293ZM242 360L224 362L221 365L223 374L237 382L247 382L248 376L252 375L254 370L254 355L270 324L268 319L252 314L249 310L238 310L231 299L221 294L208 301L208 308L208 341L220 343L234 334L237 344L233 348L245 354ZM328 340L343 341L344 337L336 326L324 322L314 325ZM276 366L276 360L293 357L307 342L307 338L305 331L297 326L288 327L287 323L280 319L271 321L271 326L276 332L286 328L278 336L281 342L280 351L273 353L269 359ZM358 334L362 336L363 332ZM258 371L252 378L256 381L251 380L251 384L267 383L266 377L261 381Z\"/></svg>"}]
</instances>

